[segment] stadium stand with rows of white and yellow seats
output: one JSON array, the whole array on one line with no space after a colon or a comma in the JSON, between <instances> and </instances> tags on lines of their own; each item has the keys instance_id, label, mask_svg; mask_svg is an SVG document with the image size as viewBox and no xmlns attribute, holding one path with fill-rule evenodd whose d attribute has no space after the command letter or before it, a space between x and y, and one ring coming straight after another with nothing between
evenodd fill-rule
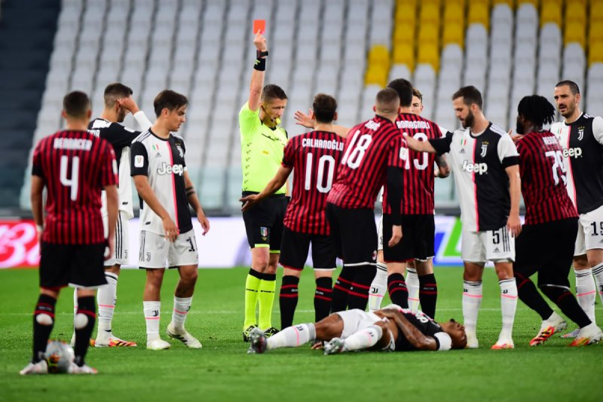
<instances>
[{"instance_id":1,"label":"stadium stand with rows of white and yellow seats","mask_svg":"<svg viewBox=\"0 0 603 402\"><path fill-rule=\"evenodd\" d=\"M552 101L552 87L562 78L583 87L582 108L600 114L603 107L603 0L33 1L48 13L33 13L26 23L43 28L39 40L33 37L39 30L28 31L38 50L27 56L7 32L25 29L10 18L24 2L4 0L0 9L0 89L19 104L3 101L0 108L0 121L14 133L2 145L14 152L4 152L8 157L0 163L17 162L16 173L2 177L1 199L16 204L22 187L25 208L26 154L61 127L63 95L86 90L98 113L104 87L119 80L134 89L151 119L160 90L189 96L181 134L191 177L208 210L237 212L236 120L248 96L256 18L267 20L267 82L288 95L282 124L290 136L303 132L292 116L308 110L315 93L335 95L339 124L352 127L371 117L376 92L399 77L423 93L423 116L448 130L458 127L450 96L466 84L482 91L486 115L504 128L514 128L519 99L539 93ZM18 69L5 52L18 52ZM25 74L28 66L36 67L32 74ZM136 127L131 118L125 124ZM436 183L438 205L455 205L451 181Z\"/></svg>"}]
</instances>

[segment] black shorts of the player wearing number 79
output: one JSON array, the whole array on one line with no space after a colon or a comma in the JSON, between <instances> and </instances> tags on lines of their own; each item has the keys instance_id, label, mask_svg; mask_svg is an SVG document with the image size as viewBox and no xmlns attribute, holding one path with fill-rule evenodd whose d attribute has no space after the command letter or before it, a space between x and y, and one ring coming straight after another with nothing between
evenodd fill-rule
<instances>
[{"instance_id":1,"label":"black shorts of the player wearing number 79","mask_svg":"<svg viewBox=\"0 0 603 402\"><path fill-rule=\"evenodd\" d=\"M515 240L513 271L525 277L538 272L538 286L568 286L578 218L523 225Z\"/></svg>"}]
</instances>

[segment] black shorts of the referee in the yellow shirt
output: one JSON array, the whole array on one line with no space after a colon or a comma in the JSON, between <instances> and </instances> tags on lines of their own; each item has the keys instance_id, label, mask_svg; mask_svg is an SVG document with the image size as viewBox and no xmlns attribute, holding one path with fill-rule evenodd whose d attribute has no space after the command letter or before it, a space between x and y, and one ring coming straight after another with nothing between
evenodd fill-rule
<instances>
[{"instance_id":1,"label":"black shorts of the referee in the yellow shirt","mask_svg":"<svg viewBox=\"0 0 603 402\"><path fill-rule=\"evenodd\" d=\"M251 194L257 193L243 192L243 196ZM287 203L288 199L284 195L275 195L263 199L250 210L243 212L249 247L270 247L271 253L280 253Z\"/></svg>"}]
</instances>

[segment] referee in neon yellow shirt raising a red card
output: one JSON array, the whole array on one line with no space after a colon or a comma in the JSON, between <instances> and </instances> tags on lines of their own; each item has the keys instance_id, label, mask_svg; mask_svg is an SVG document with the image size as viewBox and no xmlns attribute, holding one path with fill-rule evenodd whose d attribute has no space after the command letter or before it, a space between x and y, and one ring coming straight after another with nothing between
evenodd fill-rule
<instances>
[{"instance_id":1,"label":"referee in neon yellow shirt raising a red card","mask_svg":"<svg viewBox=\"0 0 603 402\"><path fill-rule=\"evenodd\" d=\"M268 48L258 31L253 39L257 58L251 73L249 100L239 111L241 130L242 196L257 194L274 177L283 160L287 132L280 127L280 118L287 104L287 95L274 84L264 85ZM276 268L280 256L283 218L287 206L286 186L273 196L243 212L247 241L251 247L251 269L245 280L245 322L243 340L259 327L266 336L278 332L272 326L272 306L276 287ZM256 303L259 320L256 321Z\"/></svg>"}]
</instances>

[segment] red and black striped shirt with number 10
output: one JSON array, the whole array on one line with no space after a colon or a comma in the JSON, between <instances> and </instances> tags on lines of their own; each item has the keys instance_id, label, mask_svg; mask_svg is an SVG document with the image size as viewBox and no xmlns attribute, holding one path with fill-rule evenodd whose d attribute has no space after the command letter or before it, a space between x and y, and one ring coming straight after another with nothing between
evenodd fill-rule
<instances>
[{"instance_id":1,"label":"red and black striped shirt with number 10","mask_svg":"<svg viewBox=\"0 0 603 402\"><path fill-rule=\"evenodd\" d=\"M344 141L328 131L311 131L289 139L283 166L293 169L293 192L285 213L285 227L301 233L329 234L324 210Z\"/></svg>"}]
</instances>

